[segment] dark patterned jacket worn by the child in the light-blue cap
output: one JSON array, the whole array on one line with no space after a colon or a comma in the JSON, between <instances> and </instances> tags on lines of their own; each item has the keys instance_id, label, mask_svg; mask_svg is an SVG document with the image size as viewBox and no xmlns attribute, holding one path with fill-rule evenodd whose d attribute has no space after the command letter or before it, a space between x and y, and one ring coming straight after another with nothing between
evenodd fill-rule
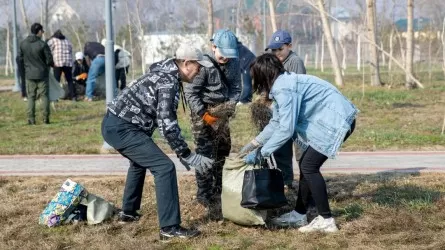
<instances>
[{"instance_id":1,"label":"dark patterned jacket worn by the child in the light-blue cap","mask_svg":"<svg viewBox=\"0 0 445 250\"><path fill-rule=\"evenodd\" d=\"M209 60L207 57L205 57ZM228 86L215 67L201 67L192 83L184 88L185 97L193 114L202 117L210 106L232 101L237 103L241 95L241 72L238 59L220 64Z\"/></svg>"}]
</instances>

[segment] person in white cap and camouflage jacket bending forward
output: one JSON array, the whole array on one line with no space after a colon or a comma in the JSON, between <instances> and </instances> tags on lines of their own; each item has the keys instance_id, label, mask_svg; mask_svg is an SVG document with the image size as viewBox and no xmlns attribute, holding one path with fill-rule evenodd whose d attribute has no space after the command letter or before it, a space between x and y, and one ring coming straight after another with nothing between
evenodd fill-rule
<instances>
[{"instance_id":1,"label":"person in white cap and camouflage jacket bending forward","mask_svg":"<svg viewBox=\"0 0 445 250\"><path fill-rule=\"evenodd\" d=\"M189 169L204 174L213 160L190 151L181 135L176 110L182 82L191 82L203 61L202 52L191 44L182 44L175 58L154 63L150 72L135 80L108 105L102 122L104 140L130 160L122 202L120 222L139 219L142 190L147 169L154 176L161 240L173 237L191 238L199 231L180 226L176 169L170 158L152 139L159 128L171 149Z\"/></svg>"}]
</instances>

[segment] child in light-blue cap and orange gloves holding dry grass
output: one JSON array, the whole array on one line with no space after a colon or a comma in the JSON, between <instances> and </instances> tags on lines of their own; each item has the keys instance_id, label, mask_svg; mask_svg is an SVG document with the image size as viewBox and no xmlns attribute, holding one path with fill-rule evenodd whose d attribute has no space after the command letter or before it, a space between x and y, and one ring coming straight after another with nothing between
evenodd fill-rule
<instances>
[{"instance_id":1,"label":"child in light-blue cap and orange gloves holding dry grass","mask_svg":"<svg viewBox=\"0 0 445 250\"><path fill-rule=\"evenodd\" d=\"M217 209L222 188L222 167L230 153L231 140L228 119L218 117L211 109L222 105L228 116L235 112L241 94L241 75L235 34L230 30L219 30L211 41L213 57L208 56L207 59L214 66L201 68L184 92L191 110L196 152L215 160L208 174L196 174L197 201Z\"/></svg>"}]
</instances>

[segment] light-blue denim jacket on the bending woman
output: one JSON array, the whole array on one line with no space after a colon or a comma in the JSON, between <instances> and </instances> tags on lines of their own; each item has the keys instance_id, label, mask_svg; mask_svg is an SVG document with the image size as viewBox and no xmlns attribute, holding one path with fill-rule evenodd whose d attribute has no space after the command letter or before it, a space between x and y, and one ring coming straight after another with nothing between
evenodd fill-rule
<instances>
[{"instance_id":1,"label":"light-blue denim jacket on the bending woman","mask_svg":"<svg viewBox=\"0 0 445 250\"><path fill-rule=\"evenodd\" d=\"M280 75L269 98L272 119L255 138L266 157L292 138L303 151L311 146L335 158L359 112L332 84L311 75Z\"/></svg>"}]
</instances>

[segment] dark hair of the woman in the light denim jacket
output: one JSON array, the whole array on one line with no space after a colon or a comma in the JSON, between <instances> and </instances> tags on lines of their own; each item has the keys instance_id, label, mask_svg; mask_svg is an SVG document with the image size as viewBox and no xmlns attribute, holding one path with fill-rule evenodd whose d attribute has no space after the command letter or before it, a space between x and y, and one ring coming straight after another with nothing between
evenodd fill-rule
<instances>
[{"instance_id":1,"label":"dark hair of the woman in the light denim jacket","mask_svg":"<svg viewBox=\"0 0 445 250\"><path fill-rule=\"evenodd\" d=\"M269 98L269 92L275 80L286 72L278 57L266 53L258 56L250 65L250 75L253 79L253 92L264 94Z\"/></svg>"}]
</instances>

